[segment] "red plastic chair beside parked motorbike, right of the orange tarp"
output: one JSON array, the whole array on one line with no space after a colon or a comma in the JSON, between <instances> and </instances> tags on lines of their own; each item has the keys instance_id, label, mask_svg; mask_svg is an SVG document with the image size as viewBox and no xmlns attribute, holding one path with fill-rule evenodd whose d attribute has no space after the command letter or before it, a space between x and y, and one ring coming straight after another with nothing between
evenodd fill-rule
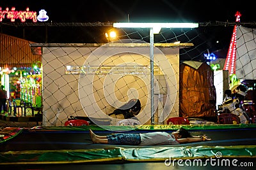
<instances>
[{"instance_id":1,"label":"red plastic chair beside parked motorbike, right of the orange tarp","mask_svg":"<svg viewBox=\"0 0 256 170\"><path fill-rule=\"evenodd\" d=\"M240 118L232 113L221 113L218 115L218 124L240 124Z\"/></svg>"}]
</instances>

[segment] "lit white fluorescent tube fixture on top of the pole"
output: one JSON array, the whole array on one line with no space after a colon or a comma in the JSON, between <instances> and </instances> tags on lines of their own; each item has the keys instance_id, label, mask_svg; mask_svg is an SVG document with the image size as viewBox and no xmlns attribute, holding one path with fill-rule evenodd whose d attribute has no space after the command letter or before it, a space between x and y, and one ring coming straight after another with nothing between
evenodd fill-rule
<instances>
[{"instance_id":1,"label":"lit white fluorescent tube fixture on top of the pole","mask_svg":"<svg viewBox=\"0 0 256 170\"><path fill-rule=\"evenodd\" d=\"M124 22L114 23L116 28L153 28L154 34L158 34L161 28L195 28L198 23L139 23L139 22Z\"/></svg>"}]
</instances>

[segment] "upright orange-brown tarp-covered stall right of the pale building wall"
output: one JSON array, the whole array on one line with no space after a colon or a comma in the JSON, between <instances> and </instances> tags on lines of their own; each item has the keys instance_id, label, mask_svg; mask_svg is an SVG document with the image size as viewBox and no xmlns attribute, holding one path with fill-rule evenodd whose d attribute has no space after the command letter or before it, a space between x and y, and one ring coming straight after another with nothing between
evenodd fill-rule
<instances>
[{"instance_id":1,"label":"upright orange-brown tarp-covered stall right of the pale building wall","mask_svg":"<svg viewBox=\"0 0 256 170\"><path fill-rule=\"evenodd\" d=\"M180 64L180 117L216 117L214 73L203 62Z\"/></svg>"}]
</instances>

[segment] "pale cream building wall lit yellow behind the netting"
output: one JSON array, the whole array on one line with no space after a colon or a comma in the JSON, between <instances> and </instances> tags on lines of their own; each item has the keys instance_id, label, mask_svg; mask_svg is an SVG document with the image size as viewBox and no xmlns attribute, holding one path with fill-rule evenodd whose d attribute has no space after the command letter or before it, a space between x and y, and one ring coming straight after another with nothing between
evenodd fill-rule
<instances>
[{"instance_id":1,"label":"pale cream building wall lit yellow behind the netting","mask_svg":"<svg viewBox=\"0 0 256 170\"><path fill-rule=\"evenodd\" d=\"M142 105L138 119L150 124L150 74L65 74L67 66L150 66L149 51L129 44L43 46L43 125L64 125L70 116L109 118L136 97ZM154 103L156 123L163 124L179 115L179 48L154 48L154 63L159 66L154 74L166 78L166 94L156 89Z\"/></svg>"}]
</instances>

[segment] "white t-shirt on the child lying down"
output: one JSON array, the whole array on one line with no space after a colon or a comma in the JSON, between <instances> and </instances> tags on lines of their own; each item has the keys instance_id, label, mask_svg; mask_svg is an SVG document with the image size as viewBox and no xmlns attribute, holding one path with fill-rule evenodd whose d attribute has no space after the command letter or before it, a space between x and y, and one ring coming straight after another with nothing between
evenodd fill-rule
<instances>
[{"instance_id":1,"label":"white t-shirt on the child lying down","mask_svg":"<svg viewBox=\"0 0 256 170\"><path fill-rule=\"evenodd\" d=\"M177 145L179 142L172 134L167 132L148 132L141 133L140 145Z\"/></svg>"}]
</instances>

